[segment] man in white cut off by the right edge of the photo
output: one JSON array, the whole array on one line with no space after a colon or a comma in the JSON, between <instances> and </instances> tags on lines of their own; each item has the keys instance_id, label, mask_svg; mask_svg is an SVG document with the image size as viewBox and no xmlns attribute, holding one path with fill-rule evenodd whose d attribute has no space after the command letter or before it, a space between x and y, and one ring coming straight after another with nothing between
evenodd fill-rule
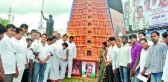
<instances>
[{"instance_id":1,"label":"man in white cut off by the right edge of the photo","mask_svg":"<svg viewBox=\"0 0 168 82\"><path fill-rule=\"evenodd\" d=\"M167 32L164 32L162 34L162 37L163 37L163 41L168 45L168 30ZM164 68L163 68L163 75L162 75L162 80L164 82L168 82L168 50L167 50L167 55L166 55L166 61L165 61L165 65L164 65Z\"/></svg>"}]
</instances>

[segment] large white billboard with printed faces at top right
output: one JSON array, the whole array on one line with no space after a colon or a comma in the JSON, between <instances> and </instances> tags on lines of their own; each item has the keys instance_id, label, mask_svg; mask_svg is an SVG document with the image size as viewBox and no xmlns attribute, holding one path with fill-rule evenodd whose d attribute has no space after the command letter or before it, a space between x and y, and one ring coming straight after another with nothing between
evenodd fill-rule
<instances>
[{"instance_id":1,"label":"large white billboard with printed faces at top right","mask_svg":"<svg viewBox=\"0 0 168 82\"><path fill-rule=\"evenodd\" d=\"M132 30L168 26L168 0L130 0Z\"/></svg>"}]
</instances>

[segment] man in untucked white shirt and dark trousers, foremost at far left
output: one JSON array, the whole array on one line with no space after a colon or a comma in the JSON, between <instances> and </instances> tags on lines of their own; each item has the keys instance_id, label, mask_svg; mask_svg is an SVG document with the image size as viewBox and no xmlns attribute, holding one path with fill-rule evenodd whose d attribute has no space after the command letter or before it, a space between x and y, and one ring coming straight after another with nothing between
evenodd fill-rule
<instances>
[{"instance_id":1,"label":"man in untucked white shirt and dark trousers, foremost at far left","mask_svg":"<svg viewBox=\"0 0 168 82\"><path fill-rule=\"evenodd\" d=\"M0 41L0 55L2 59L1 73L5 73L5 80L3 82L12 82L13 77L18 76L18 70L16 70L16 59L13 50L13 44L11 37L14 36L16 27L13 24L8 24L6 26L7 32L4 38ZM10 61L9 61L10 60Z\"/></svg>"}]
</instances>

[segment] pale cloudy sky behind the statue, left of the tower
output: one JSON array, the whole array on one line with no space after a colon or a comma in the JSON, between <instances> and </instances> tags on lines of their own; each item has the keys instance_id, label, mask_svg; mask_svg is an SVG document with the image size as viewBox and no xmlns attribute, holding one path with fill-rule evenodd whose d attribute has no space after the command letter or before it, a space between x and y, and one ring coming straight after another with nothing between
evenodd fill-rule
<instances>
[{"instance_id":1,"label":"pale cloudy sky behind the statue, left of the tower","mask_svg":"<svg viewBox=\"0 0 168 82\"><path fill-rule=\"evenodd\" d=\"M66 32L73 0L44 0L44 16L53 15L54 28L60 32ZM0 18L8 19L8 10L11 5L12 14L15 16L14 24L29 25L30 29L36 29L41 18L42 0L0 0ZM46 21L43 20L44 27Z\"/></svg>"}]
</instances>

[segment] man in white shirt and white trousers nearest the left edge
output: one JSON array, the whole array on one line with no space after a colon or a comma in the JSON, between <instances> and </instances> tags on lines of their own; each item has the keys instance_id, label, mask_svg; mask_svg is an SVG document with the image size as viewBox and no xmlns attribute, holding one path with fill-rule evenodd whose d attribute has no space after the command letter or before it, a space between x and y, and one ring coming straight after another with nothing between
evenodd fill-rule
<instances>
[{"instance_id":1,"label":"man in white shirt and white trousers nearest the left edge","mask_svg":"<svg viewBox=\"0 0 168 82\"><path fill-rule=\"evenodd\" d=\"M16 56L16 63L17 63L19 75L17 78L13 79L13 82L21 82L22 75L25 69L25 63L24 63L25 58L24 58L24 55L22 54L22 49L21 49L22 47L19 43L19 40L23 36L23 31L20 28L16 28L15 33L16 34L14 35L14 37L11 38L11 40L13 43L13 49Z\"/></svg>"}]
</instances>

